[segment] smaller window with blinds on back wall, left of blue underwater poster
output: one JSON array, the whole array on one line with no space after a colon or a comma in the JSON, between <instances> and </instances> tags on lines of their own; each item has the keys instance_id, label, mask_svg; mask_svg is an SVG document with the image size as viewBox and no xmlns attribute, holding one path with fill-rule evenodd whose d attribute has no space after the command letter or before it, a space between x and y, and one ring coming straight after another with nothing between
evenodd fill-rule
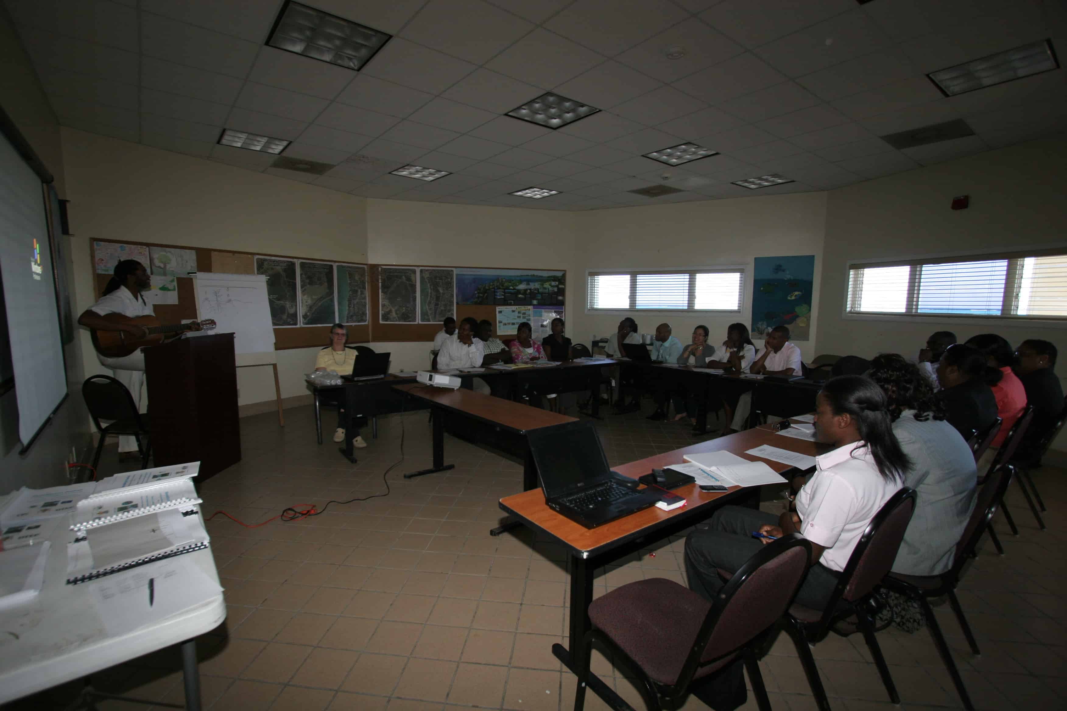
<instances>
[{"instance_id":1,"label":"smaller window with blinds on back wall, left of blue underwater poster","mask_svg":"<svg viewBox=\"0 0 1067 711\"><path fill-rule=\"evenodd\" d=\"M589 272L587 309L740 312L745 270Z\"/></svg>"}]
</instances>

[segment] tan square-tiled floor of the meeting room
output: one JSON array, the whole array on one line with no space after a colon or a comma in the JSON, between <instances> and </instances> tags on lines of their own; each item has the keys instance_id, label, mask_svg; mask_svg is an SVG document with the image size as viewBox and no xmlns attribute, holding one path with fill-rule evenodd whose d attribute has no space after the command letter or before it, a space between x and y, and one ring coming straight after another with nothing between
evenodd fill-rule
<instances>
[{"instance_id":1,"label":"tan square-tiled floor of the meeting room","mask_svg":"<svg viewBox=\"0 0 1067 711\"><path fill-rule=\"evenodd\" d=\"M574 677L550 652L567 629L566 556L525 530L499 538L496 501L521 488L520 465L451 437L452 471L404 481L429 466L425 413L385 418L380 435L348 465L336 446L315 443L309 407L241 421L243 460L203 485L206 515L224 510L246 522L298 503L331 505L321 516L256 529L216 517L208 523L223 585L226 623L200 640L206 708L300 711L570 709ZM640 415L611 417L601 434L611 464L695 441L683 424ZM103 473L110 473L105 471ZM1052 512L1067 502L1064 472L1036 480L1050 507L1040 532L1024 503L1009 503L1021 535L998 520L1006 555L986 546L968 571L960 600L982 646L974 657L952 613L939 609L968 688L981 709L1067 708L1067 536ZM765 504L770 510L776 502ZM780 508L777 508L780 510ZM682 539L665 542L601 571L598 593L658 576L683 581ZM879 633L904 707L958 707L928 633ZM862 641L831 635L815 647L834 709L888 708ZM631 682L602 658L595 669L636 708ZM780 635L762 661L775 709L814 709L791 642ZM160 652L94 676L108 691L182 701L176 655ZM70 685L23 699L57 708ZM100 709L144 708L106 701ZM587 708L606 708L592 695ZM690 699L685 709L705 708ZM746 709L754 709L750 698Z\"/></svg>"}]
</instances>

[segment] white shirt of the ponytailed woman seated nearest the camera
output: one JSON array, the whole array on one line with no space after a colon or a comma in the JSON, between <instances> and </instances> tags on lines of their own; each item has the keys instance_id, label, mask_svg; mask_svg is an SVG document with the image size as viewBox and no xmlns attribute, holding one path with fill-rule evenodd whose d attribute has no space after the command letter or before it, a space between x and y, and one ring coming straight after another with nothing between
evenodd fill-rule
<instances>
[{"instance_id":1,"label":"white shirt of the ponytailed woman seated nearest the camera","mask_svg":"<svg viewBox=\"0 0 1067 711\"><path fill-rule=\"evenodd\" d=\"M816 456L815 467L797 492L800 535L826 548L819 563L844 570L867 523L902 484L882 479L862 441Z\"/></svg>"}]
</instances>

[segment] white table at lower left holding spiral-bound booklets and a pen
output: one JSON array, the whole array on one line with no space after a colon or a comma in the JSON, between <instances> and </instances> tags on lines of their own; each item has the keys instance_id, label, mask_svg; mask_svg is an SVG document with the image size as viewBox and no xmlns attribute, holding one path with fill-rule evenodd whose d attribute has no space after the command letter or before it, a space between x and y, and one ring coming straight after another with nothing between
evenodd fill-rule
<instances>
[{"instance_id":1,"label":"white table at lower left holding spiral-bound booklets and a pen","mask_svg":"<svg viewBox=\"0 0 1067 711\"><path fill-rule=\"evenodd\" d=\"M0 508L6 497L0 498ZM198 515L198 507L197 507ZM92 602L93 585L107 581L66 584L66 544L73 536L64 519L51 536L51 550L41 594L32 602L0 611L0 705L100 669L137 659L171 645L181 646L186 708L200 710L200 667L195 637L226 618L220 592L178 614L129 630L108 633ZM219 582L211 549L170 559L196 566ZM150 571L158 561L137 568ZM17 639L16 639L17 636Z\"/></svg>"}]
</instances>

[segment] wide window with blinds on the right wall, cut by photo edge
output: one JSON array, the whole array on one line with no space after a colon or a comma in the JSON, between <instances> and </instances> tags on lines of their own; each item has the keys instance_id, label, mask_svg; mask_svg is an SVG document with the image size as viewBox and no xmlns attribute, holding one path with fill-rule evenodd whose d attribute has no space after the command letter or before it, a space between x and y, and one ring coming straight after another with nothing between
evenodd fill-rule
<instances>
[{"instance_id":1,"label":"wide window with blinds on the right wall, cut by photo edge","mask_svg":"<svg viewBox=\"0 0 1067 711\"><path fill-rule=\"evenodd\" d=\"M853 264L846 311L1067 319L1067 251Z\"/></svg>"}]
</instances>

